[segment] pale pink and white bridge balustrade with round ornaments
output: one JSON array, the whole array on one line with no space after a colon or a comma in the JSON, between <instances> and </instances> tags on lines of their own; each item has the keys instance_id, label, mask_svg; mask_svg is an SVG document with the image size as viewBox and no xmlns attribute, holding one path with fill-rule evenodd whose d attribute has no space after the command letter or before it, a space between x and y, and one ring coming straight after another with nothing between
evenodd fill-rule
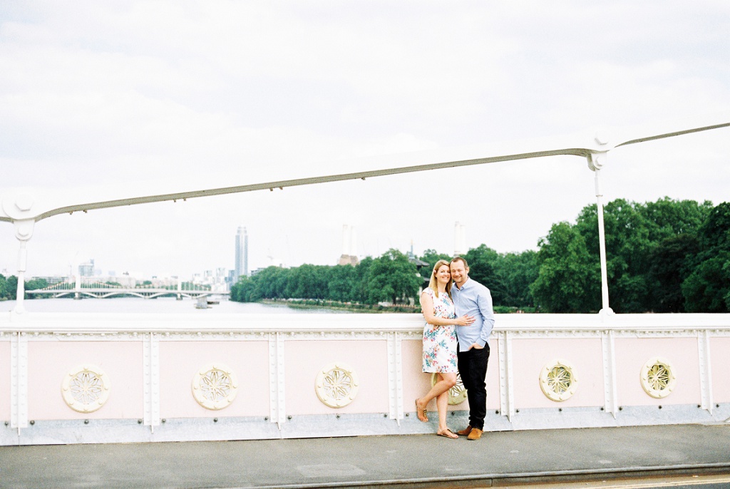
<instances>
[{"instance_id":1,"label":"pale pink and white bridge balustrade with round ornaments","mask_svg":"<svg viewBox=\"0 0 730 489\"><path fill-rule=\"evenodd\" d=\"M420 315L0 317L0 444L432 433ZM488 431L730 418L730 315L497 315ZM468 423L450 392L448 423Z\"/></svg>"}]
</instances>

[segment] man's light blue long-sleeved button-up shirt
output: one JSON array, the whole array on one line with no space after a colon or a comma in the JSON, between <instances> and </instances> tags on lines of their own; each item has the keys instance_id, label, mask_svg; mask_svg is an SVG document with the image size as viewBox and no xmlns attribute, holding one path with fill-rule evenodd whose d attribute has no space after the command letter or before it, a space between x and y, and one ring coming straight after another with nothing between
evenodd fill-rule
<instances>
[{"instance_id":1,"label":"man's light blue long-sleeved button-up shirt","mask_svg":"<svg viewBox=\"0 0 730 489\"><path fill-rule=\"evenodd\" d=\"M489 289L479 282L466 279L459 289L456 284L451 288L451 298L456 307L456 316L474 317L472 326L456 326L459 351L465 352L472 344L484 346L489 343L489 335L494 327L494 311L492 295Z\"/></svg>"}]
</instances>

